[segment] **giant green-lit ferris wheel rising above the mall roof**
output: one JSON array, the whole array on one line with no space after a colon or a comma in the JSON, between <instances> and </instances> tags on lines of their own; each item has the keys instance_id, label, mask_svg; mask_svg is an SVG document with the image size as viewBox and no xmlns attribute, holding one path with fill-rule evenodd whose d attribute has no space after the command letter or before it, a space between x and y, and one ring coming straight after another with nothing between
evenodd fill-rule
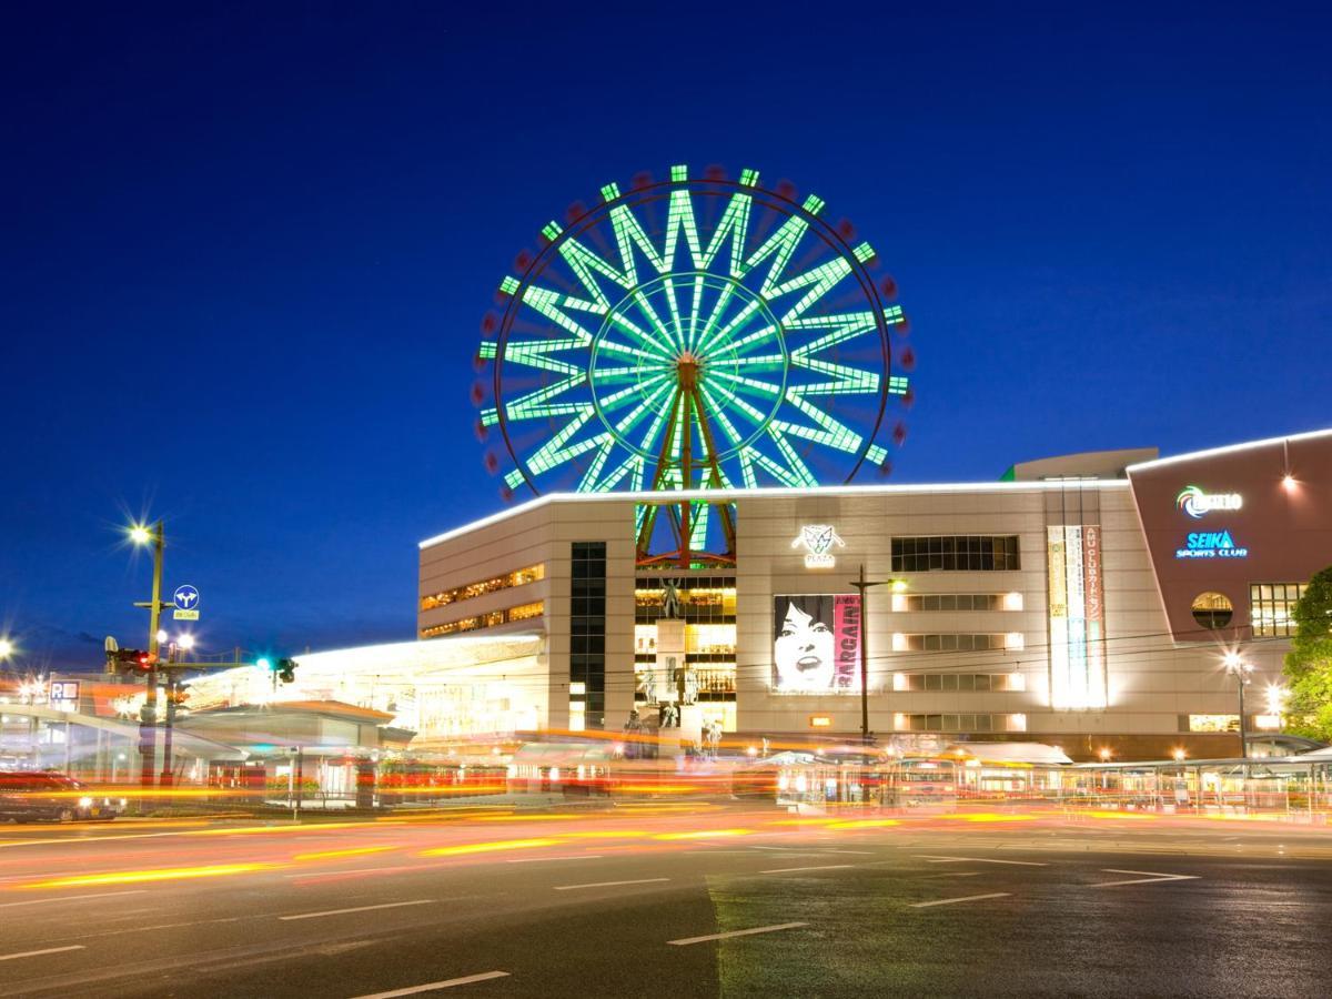
<instances>
[{"instance_id":1,"label":"giant green-lit ferris wheel rising above the mall roof","mask_svg":"<svg viewBox=\"0 0 1332 999\"><path fill-rule=\"evenodd\" d=\"M541 230L482 324L478 433L507 456L488 465L509 466L506 496L886 473L914 357L876 262L822 198L757 170L607 184Z\"/></svg>"}]
</instances>

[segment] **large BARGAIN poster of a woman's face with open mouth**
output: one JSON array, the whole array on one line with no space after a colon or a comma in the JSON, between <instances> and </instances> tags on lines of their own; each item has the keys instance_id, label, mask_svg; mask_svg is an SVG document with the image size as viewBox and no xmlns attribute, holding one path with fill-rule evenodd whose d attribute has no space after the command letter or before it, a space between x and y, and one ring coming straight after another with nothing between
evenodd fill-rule
<instances>
[{"instance_id":1,"label":"large BARGAIN poster of a woman's face with open mouth","mask_svg":"<svg viewBox=\"0 0 1332 999\"><path fill-rule=\"evenodd\" d=\"M860 597L783 594L773 601L773 690L782 694L858 691Z\"/></svg>"}]
</instances>

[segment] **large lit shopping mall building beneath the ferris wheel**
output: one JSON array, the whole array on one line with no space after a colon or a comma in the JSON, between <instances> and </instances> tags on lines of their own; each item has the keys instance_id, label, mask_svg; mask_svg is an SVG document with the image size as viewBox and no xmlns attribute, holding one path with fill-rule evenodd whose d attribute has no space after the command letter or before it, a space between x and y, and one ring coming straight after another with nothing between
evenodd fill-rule
<instances>
[{"instance_id":1,"label":"large lit shopping mall building beneath the ferris wheel","mask_svg":"<svg viewBox=\"0 0 1332 999\"><path fill-rule=\"evenodd\" d=\"M726 505L727 557L643 558L645 510L682 500ZM846 739L863 623L880 743L1215 758L1239 753L1227 655L1253 667L1249 731L1275 729L1292 607L1329 563L1320 430L998 482L545 496L421 542L418 637L523 638L513 669L469 667L482 727L619 730L685 694L742 738Z\"/></svg>"}]
</instances>

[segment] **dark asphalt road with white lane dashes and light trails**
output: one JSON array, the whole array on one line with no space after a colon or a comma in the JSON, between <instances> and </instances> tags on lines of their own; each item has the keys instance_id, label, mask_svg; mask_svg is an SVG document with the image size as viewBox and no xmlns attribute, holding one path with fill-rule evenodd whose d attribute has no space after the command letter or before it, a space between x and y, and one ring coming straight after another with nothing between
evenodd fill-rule
<instances>
[{"instance_id":1,"label":"dark asphalt road with white lane dashes and light trails","mask_svg":"<svg viewBox=\"0 0 1332 999\"><path fill-rule=\"evenodd\" d=\"M1332 830L1259 822L0 829L0 995L1324 996L1329 926Z\"/></svg>"}]
</instances>

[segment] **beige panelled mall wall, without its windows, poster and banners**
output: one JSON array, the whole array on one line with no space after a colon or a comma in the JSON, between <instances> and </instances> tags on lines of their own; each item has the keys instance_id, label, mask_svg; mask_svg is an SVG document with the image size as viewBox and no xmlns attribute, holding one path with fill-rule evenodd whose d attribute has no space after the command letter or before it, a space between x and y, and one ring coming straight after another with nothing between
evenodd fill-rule
<instances>
[{"instance_id":1,"label":"beige panelled mall wall, without its windows, poster and banners","mask_svg":"<svg viewBox=\"0 0 1332 999\"><path fill-rule=\"evenodd\" d=\"M757 490L733 494L737 505L737 727L751 734L854 734L860 729L855 695L783 695L771 690L773 598L777 594L854 593L860 563L867 578L892 577L894 535L1016 534L1016 571L907 573L911 593L1020 594L1020 610L894 611L887 586L867 597L870 727L903 730L900 715L991 714L1024 718L1024 738L1091 746L1111 737L1183 735L1180 715L1236 713L1235 681L1221 669L1215 643L1176 645L1160 605L1132 496L1124 480L1007 482L980 486L866 486L821 490ZM658 497L659 500L659 497ZM539 582L421 610L422 631L462 617L484 615L535 599L537 621L501 629L546 634L549 713L543 725L569 727L570 545L607 546L606 729L618 730L633 707L635 497L546 497L422 542L422 597L543 563ZM1047 523L1083 510L1103 531L1108 707L1050 707L1047 618ZM793 547L802 525L834 525L844 547L832 569L807 569ZM719 574L722 570L709 570ZM679 573L665 573L678 577ZM894 633L1018 633L1020 647L972 653L895 651ZM1251 655L1257 675L1276 678L1284 642ZM1019 674L1022 690L991 693L903 691L895 673ZM1261 711L1255 685L1249 713ZM825 729L811 718L829 718ZM1020 733L1011 729L1010 733Z\"/></svg>"}]
</instances>

